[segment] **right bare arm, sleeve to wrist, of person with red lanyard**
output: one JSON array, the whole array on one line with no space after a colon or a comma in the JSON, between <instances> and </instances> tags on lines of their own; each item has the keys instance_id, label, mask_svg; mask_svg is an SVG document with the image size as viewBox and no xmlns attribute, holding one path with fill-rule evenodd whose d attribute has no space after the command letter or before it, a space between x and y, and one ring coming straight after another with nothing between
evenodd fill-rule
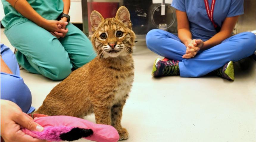
<instances>
[{"instance_id":1,"label":"right bare arm, sleeve to wrist, of person with red lanyard","mask_svg":"<svg viewBox=\"0 0 256 142\"><path fill-rule=\"evenodd\" d=\"M227 17L222 26L220 32L215 34L212 38L204 42L204 45L200 48L201 50L207 50L215 45L220 44L223 40L227 39L230 37L235 24L238 20L239 16L234 16L234 17Z\"/></svg>"}]
</instances>

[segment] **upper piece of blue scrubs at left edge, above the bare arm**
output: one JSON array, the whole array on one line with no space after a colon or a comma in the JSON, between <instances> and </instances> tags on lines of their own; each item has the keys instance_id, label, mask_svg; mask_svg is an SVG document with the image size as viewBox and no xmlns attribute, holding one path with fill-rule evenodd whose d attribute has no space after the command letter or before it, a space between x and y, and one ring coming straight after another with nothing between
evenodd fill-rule
<instances>
[{"instance_id":1,"label":"upper piece of blue scrubs at left edge, above the bare arm","mask_svg":"<svg viewBox=\"0 0 256 142\"><path fill-rule=\"evenodd\" d=\"M20 75L20 68L13 51L4 44L1 44L1 57L13 74Z\"/></svg>"}]
</instances>

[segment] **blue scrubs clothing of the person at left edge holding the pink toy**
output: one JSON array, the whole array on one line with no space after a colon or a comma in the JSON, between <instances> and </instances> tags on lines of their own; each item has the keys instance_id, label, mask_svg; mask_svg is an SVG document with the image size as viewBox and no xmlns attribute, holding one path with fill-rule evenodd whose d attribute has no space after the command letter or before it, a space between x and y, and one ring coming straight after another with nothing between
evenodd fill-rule
<instances>
[{"instance_id":1,"label":"blue scrubs clothing of the person at left edge holding the pink toy","mask_svg":"<svg viewBox=\"0 0 256 142\"><path fill-rule=\"evenodd\" d=\"M1 72L1 99L16 103L25 113L32 113L35 108L31 107L31 92L20 77L18 62L13 51L1 44L1 56L13 72L13 74Z\"/></svg>"}]
</instances>

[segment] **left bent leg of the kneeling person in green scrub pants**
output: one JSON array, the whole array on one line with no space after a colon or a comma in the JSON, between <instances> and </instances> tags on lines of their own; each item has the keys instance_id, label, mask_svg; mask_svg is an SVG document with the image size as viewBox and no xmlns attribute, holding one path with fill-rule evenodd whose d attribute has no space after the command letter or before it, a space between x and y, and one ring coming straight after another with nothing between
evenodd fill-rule
<instances>
[{"instance_id":1,"label":"left bent leg of the kneeling person in green scrub pants","mask_svg":"<svg viewBox=\"0 0 256 142\"><path fill-rule=\"evenodd\" d=\"M71 73L68 52L49 31L32 21L17 23L4 31L10 43L18 49L18 63L32 73L52 80L61 80Z\"/></svg>"}]
</instances>

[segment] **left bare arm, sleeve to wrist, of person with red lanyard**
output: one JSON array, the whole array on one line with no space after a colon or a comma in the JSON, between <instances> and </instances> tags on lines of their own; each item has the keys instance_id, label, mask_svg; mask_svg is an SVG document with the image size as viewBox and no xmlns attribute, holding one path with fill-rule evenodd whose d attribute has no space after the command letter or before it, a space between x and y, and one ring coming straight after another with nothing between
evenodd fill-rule
<instances>
[{"instance_id":1,"label":"left bare arm, sleeve to wrist, of person with red lanyard","mask_svg":"<svg viewBox=\"0 0 256 142\"><path fill-rule=\"evenodd\" d=\"M192 34L190 32L189 28L189 21L188 21L188 16L186 12L182 12L179 10L176 10L176 15L177 15L177 28L178 28L178 37L181 40L183 44L188 46L188 44L192 40Z\"/></svg>"}]
</instances>

